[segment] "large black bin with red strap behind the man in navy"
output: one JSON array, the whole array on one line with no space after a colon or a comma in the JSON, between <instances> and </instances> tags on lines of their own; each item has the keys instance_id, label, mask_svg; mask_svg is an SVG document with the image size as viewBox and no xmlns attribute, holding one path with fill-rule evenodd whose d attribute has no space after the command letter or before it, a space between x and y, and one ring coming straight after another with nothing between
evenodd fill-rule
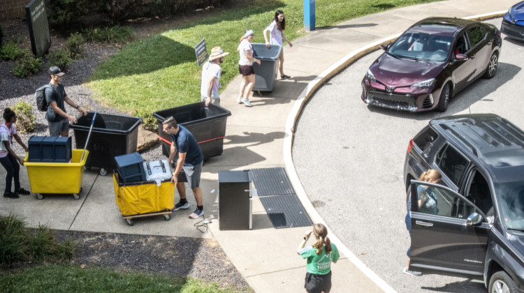
<instances>
[{"instance_id":1,"label":"large black bin with red strap behind the man in navy","mask_svg":"<svg viewBox=\"0 0 524 293\"><path fill-rule=\"evenodd\" d=\"M166 157L169 157L172 140L170 135L163 132L162 122L172 116L175 117L178 124L187 128L194 135L204 158L222 154L226 136L226 121L227 117L231 116L231 112L214 104L205 107L204 102L154 112L153 117L159 121L162 153Z\"/></svg>"}]
</instances>

